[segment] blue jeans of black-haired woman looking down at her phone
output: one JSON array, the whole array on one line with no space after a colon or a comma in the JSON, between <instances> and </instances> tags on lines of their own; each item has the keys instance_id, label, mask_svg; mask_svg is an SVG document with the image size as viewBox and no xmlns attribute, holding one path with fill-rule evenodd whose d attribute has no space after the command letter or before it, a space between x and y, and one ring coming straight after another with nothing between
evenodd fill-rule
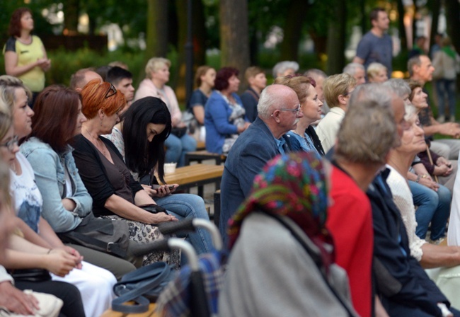
<instances>
[{"instance_id":1,"label":"blue jeans of black-haired woman looking down at her phone","mask_svg":"<svg viewBox=\"0 0 460 317\"><path fill-rule=\"evenodd\" d=\"M191 194L174 194L161 198L155 198L155 202L164 209L168 210L168 214L173 214L177 219L206 219L209 217L206 212L205 202L202 197ZM197 254L209 253L214 250L212 245L211 235L206 229L197 229L194 233L188 235L178 235L185 237L185 240L190 242L195 248Z\"/></svg>"}]
</instances>

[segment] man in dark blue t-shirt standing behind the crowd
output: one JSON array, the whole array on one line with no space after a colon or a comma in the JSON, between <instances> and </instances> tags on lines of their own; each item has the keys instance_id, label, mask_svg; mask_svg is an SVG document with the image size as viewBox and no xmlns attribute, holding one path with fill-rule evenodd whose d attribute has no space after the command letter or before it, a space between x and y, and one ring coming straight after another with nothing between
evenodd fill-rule
<instances>
[{"instance_id":1,"label":"man in dark blue t-shirt standing behind the crowd","mask_svg":"<svg viewBox=\"0 0 460 317\"><path fill-rule=\"evenodd\" d=\"M372 62L384 64L391 77L391 60L393 59L393 43L391 36L386 34L390 20L383 8L374 8L370 14L372 28L364 34L356 50L354 63L363 64L367 69Z\"/></svg>"}]
</instances>

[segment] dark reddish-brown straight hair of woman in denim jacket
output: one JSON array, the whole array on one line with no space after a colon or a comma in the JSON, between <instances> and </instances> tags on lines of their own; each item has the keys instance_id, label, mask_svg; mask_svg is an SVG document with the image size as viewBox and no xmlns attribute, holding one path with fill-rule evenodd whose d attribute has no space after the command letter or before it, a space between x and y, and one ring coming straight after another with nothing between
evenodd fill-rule
<instances>
[{"instance_id":1,"label":"dark reddish-brown straight hair of woman in denim jacket","mask_svg":"<svg viewBox=\"0 0 460 317\"><path fill-rule=\"evenodd\" d=\"M43 89L35 100L30 137L37 137L57 152L62 152L74 136L81 96L64 86Z\"/></svg>"}]
</instances>

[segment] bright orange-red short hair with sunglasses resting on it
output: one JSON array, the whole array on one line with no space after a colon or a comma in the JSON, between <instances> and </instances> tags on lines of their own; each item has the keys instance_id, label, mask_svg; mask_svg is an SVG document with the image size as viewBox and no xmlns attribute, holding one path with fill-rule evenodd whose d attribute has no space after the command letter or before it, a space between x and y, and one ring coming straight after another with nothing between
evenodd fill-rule
<instances>
[{"instance_id":1,"label":"bright orange-red short hair with sunglasses resting on it","mask_svg":"<svg viewBox=\"0 0 460 317\"><path fill-rule=\"evenodd\" d=\"M100 79L93 79L81 90L82 112L88 120L96 117L99 110L103 110L105 115L110 116L125 107L125 95L111 86L113 85L107 81L101 82ZM113 93L113 89L116 93Z\"/></svg>"}]
</instances>

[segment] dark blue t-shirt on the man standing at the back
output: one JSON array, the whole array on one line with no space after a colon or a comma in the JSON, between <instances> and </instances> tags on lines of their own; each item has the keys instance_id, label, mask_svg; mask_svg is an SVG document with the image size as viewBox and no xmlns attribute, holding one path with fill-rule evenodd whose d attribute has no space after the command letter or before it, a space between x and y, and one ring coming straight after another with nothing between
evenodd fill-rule
<instances>
[{"instance_id":1,"label":"dark blue t-shirt on the man standing at the back","mask_svg":"<svg viewBox=\"0 0 460 317\"><path fill-rule=\"evenodd\" d=\"M391 77L391 60L393 59L393 42L391 36L384 34L381 38L371 31L364 34L356 50L356 56L364 59L364 68L367 69L372 62L384 64Z\"/></svg>"}]
</instances>

